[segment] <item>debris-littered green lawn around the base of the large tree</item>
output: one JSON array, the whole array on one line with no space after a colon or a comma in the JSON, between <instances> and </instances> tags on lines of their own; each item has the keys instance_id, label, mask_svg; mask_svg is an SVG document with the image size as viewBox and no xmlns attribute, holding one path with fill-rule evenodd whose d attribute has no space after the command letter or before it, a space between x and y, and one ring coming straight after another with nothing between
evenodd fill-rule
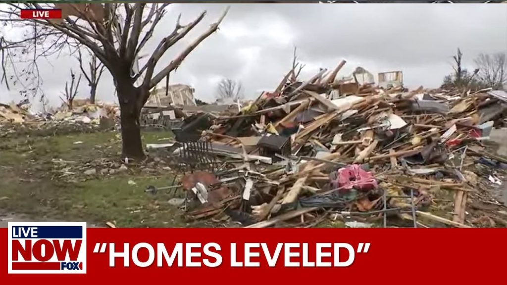
<instances>
[{"instance_id":1,"label":"debris-littered green lawn around the base of the large tree","mask_svg":"<svg viewBox=\"0 0 507 285\"><path fill-rule=\"evenodd\" d=\"M172 134L143 132L143 142L167 142ZM0 213L20 213L35 220L85 221L118 227L185 227L181 211L166 193L144 192L167 186L170 170L119 169L117 132L56 136L19 136L0 141ZM89 169L92 175L84 175ZM104 169L104 170L102 170ZM130 181L130 183L129 183Z\"/></svg>"}]
</instances>

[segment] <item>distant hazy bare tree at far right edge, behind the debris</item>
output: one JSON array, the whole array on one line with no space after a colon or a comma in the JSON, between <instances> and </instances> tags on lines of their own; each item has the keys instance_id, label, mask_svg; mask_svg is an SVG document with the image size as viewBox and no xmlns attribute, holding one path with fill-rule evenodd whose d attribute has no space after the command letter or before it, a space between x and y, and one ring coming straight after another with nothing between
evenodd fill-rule
<instances>
[{"instance_id":1,"label":"distant hazy bare tree at far right edge, behind the debris","mask_svg":"<svg viewBox=\"0 0 507 285\"><path fill-rule=\"evenodd\" d=\"M481 53L474 61L479 68L479 78L486 86L503 89L503 86L507 84L505 53Z\"/></svg>"}]
</instances>

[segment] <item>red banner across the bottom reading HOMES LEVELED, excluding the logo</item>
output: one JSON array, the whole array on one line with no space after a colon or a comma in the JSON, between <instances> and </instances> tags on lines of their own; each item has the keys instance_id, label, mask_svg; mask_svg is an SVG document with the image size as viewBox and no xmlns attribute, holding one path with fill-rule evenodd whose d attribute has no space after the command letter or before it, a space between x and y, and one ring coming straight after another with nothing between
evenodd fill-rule
<instances>
[{"instance_id":1,"label":"red banner across the bottom reading HOMES LEVELED, excluding the logo","mask_svg":"<svg viewBox=\"0 0 507 285\"><path fill-rule=\"evenodd\" d=\"M8 274L11 246L0 229L0 280L503 282L505 237L507 229L87 229L85 274Z\"/></svg>"}]
</instances>

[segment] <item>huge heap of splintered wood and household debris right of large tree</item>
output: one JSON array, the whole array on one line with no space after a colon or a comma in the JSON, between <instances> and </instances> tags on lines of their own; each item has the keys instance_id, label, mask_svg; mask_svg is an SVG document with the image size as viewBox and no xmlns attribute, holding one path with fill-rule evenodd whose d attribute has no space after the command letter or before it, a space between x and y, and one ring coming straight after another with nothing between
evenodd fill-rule
<instances>
[{"instance_id":1,"label":"huge heap of splintered wood and household debris right of large tree","mask_svg":"<svg viewBox=\"0 0 507 285\"><path fill-rule=\"evenodd\" d=\"M505 183L507 160L485 144L506 125L507 93L337 81L343 64L305 82L293 68L236 115L185 119L174 167L187 167L186 217L247 227L309 227L327 216L471 227L482 218L469 203L502 206L480 185ZM479 160L489 174L476 174Z\"/></svg>"}]
</instances>

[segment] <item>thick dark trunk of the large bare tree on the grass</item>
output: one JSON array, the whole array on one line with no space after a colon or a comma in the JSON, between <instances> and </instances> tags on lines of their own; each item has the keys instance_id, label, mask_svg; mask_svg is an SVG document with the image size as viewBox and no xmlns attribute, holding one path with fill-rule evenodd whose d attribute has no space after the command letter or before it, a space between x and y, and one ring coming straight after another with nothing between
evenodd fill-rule
<instances>
[{"instance_id":1,"label":"thick dark trunk of the large bare tree on the grass","mask_svg":"<svg viewBox=\"0 0 507 285\"><path fill-rule=\"evenodd\" d=\"M125 83L125 84L123 84ZM130 85L130 86L129 86ZM143 159L139 114L141 106L137 104L139 90L129 82L118 82L118 100L120 102L120 122L122 130L122 158Z\"/></svg>"}]
</instances>

